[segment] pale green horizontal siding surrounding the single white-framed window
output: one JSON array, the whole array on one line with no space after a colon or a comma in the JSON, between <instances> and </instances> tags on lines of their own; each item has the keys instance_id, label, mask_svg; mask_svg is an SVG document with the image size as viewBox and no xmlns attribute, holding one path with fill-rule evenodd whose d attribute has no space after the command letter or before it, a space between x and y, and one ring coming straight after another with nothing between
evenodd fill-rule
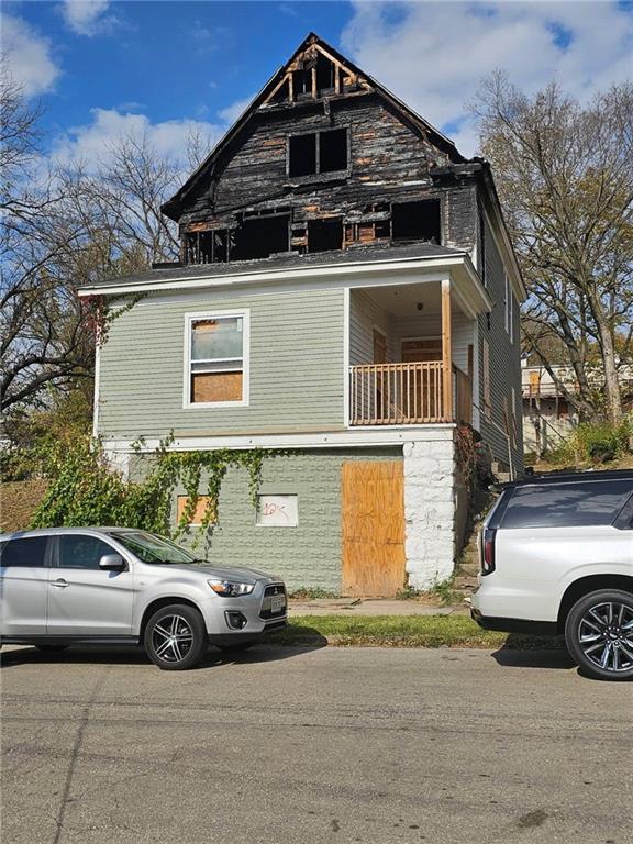
<instances>
[{"instance_id":1,"label":"pale green horizontal siding surrounding the single white-framed window","mask_svg":"<svg viewBox=\"0 0 633 844\"><path fill-rule=\"evenodd\" d=\"M186 314L249 313L247 407L184 408ZM99 434L107 438L289 433L343 427L343 290L221 297L149 295L101 348Z\"/></svg>"}]
</instances>

